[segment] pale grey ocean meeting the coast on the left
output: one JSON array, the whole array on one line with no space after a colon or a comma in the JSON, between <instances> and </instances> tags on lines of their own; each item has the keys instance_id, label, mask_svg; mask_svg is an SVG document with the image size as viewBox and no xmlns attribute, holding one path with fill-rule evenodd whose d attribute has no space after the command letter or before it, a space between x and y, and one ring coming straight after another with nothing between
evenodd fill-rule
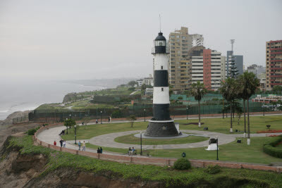
<instances>
[{"instance_id":1,"label":"pale grey ocean meeting the coast on the left","mask_svg":"<svg viewBox=\"0 0 282 188\"><path fill-rule=\"evenodd\" d=\"M34 110L41 104L61 103L63 96L71 92L85 92L103 87L56 81L37 83L0 83L0 120L15 111Z\"/></svg>"}]
</instances>

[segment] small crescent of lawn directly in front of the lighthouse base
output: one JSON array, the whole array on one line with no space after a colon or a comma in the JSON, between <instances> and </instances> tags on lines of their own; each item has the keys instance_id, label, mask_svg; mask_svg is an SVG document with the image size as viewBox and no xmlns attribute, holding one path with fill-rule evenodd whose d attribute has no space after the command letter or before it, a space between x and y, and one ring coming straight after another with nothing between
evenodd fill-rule
<instances>
[{"instance_id":1,"label":"small crescent of lawn directly in front of the lighthouse base","mask_svg":"<svg viewBox=\"0 0 282 188\"><path fill-rule=\"evenodd\" d=\"M193 142L202 142L209 139L208 137L189 136L179 139L142 139L144 145L159 145L159 144L188 144ZM140 144L140 138L134 137L134 134L117 137L115 142L124 144Z\"/></svg>"}]
</instances>

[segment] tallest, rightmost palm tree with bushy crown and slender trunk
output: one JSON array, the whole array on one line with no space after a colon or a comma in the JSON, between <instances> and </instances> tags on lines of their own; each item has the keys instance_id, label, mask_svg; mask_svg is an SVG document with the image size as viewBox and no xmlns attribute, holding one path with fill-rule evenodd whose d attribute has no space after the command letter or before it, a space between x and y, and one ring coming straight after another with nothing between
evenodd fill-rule
<instances>
[{"instance_id":1,"label":"tallest, rightmost palm tree with bushy crown and slender trunk","mask_svg":"<svg viewBox=\"0 0 282 188\"><path fill-rule=\"evenodd\" d=\"M254 73L245 72L240 75L240 96L244 100L244 116L245 116L245 100L247 100L247 144L250 145L250 113L249 113L249 99L255 94L259 88L259 79ZM246 121L246 118L244 118ZM245 123L246 125L246 123ZM244 130L245 131L245 130Z\"/></svg>"}]
</instances>

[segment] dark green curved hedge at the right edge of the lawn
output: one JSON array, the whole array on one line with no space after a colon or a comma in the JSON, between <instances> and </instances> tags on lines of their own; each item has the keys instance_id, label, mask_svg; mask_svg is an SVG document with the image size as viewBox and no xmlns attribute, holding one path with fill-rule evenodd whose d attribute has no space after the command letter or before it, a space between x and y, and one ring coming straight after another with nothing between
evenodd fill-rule
<instances>
[{"instance_id":1,"label":"dark green curved hedge at the right edge of the lawn","mask_svg":"<svg viewBox=\"0 0 282 188\"><path fill-rule=\"evenodd\" d=\"M274 156L274 157L277 157L277 158L282 158L282 148L281 147L276 147L277 144L279 144L280 142L282 142L282 135L277 137L276 140L264 144L264 147L263 147L264 153L269 154L269 156Z\"/></svg>"}]
</instances>

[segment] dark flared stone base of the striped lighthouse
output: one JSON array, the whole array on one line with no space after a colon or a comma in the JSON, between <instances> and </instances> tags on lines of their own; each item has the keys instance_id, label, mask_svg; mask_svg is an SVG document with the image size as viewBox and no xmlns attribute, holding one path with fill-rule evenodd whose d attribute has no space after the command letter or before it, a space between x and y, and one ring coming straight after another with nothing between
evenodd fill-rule
<instances>
[{"instance_id":1,"label":"dark flared stone base of the striped lighthouse","mask_svg":"<svg viewBox=\"0 0 282 188\"><path fill-rule=\"evenodd\" d=\"M147 137L175 137L178 135L179 133L173 120L149 120L149 125L145 132Z\"/></svg>"}]
</instances>

